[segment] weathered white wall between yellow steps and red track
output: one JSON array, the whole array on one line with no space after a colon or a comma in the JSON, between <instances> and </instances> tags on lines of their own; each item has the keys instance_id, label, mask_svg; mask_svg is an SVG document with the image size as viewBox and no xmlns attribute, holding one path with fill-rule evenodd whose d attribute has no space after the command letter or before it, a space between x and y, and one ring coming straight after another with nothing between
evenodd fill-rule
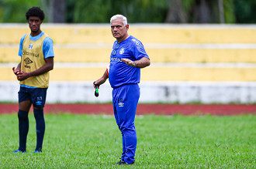
<instances>
[{"instance_id":1,"label":"weathered white wall between yellow steps and red track","mask_svg":"<svg viewBox=\"0 0 256 169\"><path fill-rule=\"evenodd\" d=\"M19 82L0 81L0 102L18 102ZM94 96L92 82L51 81L47 103L110 103L107 81ZM140 103L256 103L256 82L141 82Z\"/></svg>"}]
</instances>

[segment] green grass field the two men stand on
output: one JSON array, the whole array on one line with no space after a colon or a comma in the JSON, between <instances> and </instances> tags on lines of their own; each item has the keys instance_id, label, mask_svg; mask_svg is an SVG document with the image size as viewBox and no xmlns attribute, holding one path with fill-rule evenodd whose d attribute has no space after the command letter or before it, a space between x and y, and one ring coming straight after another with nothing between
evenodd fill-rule
<instances>
[{"instance_id":1,"label":"green grass field the two men stand on","mask_svg":"<svg viewBox=\"0 0 256 169\"><path fill-rule=\"evenodd\" d=\"M26 154L19 146L18 117L0 115L0 168L111 168L119 161L121 134L112 116L47 114L42 154L29 115ZM136 117L135 168L255 168L256 117Z\"/></svg>"}]
</instances>

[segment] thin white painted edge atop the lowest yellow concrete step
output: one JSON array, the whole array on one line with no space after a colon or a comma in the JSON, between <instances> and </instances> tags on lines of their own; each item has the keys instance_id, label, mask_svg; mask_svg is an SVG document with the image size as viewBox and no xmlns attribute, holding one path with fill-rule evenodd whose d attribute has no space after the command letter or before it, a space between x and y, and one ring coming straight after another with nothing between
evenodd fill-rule
<instances>
[{"instance_id":1,"label":"thin white painted edge atop the lowest yellow concrete step","mask_svg":"<svg viewBox=\"0 0 256 169\"><path fill-rule=\"evenodd\" d=\"M102 68L108 63L54 63L54 68ZM2 68L12 68L17 63L0 63ZM256 63L151 63L152 68L256 68Z\"/></svg>"}]
</instances>

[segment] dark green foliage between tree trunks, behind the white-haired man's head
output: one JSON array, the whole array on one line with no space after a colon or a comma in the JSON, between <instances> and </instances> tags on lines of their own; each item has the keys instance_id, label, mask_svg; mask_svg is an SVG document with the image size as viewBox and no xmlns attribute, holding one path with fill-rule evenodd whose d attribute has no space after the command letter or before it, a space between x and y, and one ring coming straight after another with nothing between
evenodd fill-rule
<instances>
[{"instance_id":1,"label":"dark green foliage between tree trunks, behind the white-haired man's head","mask_svg":"<svg viewBox=\"0 0 256 169\"><path fill-rule=\"evenodd\" d=\"M67 22L108 22L126 15L129 22L164 22L168 0L67 0Z\"/></svg>"}]
</instances>

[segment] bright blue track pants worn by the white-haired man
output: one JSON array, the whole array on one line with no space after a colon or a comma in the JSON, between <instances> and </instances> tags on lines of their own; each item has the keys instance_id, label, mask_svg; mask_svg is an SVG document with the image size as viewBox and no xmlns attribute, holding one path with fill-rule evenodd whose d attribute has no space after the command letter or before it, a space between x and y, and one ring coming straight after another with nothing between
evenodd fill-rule
<instances>
[{"instance_id":1,"label":"bright blue track pants worn by the white-haired man","mask_svg":"<svg viewBox=\"0 0 256 169\"><path fill-rule=\"evenodd\" d=\"M126 84L112 90L112 104L116 123L122 132L122 160L133 163L137 147L137 134L134 126L137 104L140 98L138 84Z\"/></svg>"}]
</instances>

